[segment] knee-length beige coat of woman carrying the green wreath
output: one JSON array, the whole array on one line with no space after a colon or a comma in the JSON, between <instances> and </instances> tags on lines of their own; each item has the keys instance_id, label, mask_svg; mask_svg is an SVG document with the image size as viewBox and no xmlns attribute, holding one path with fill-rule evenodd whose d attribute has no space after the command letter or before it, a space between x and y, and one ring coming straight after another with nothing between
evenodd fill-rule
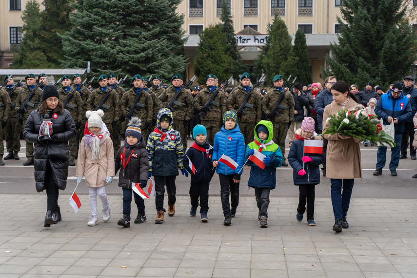
<instances>
[{"instance_id":1,"label":"knee-length beige coat of woman carrying the green wreath","mask_svg":"<svg viewBox=\"0 0 417 278\"><path fill-rule=\"evenodd\" d=\"M349 99L346 108L355 106L357 103ZM323 133L330 126L326 119L329 115L337 114L343 110L335 101L324 107ZM328 139L326 154L326 178L330 179L362 179L362 162L360 159L359 144L353 138L339 139L337 134L325 134Z\"/></svg>"}]
</instances>

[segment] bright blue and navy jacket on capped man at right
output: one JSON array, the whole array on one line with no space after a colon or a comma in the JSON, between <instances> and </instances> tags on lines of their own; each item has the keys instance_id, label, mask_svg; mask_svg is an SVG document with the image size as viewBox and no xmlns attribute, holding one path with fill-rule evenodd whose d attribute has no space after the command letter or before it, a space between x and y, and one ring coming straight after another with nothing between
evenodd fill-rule
<instances>
[{"instance_id":1,"label":"bright blue and navy jacket on capped man at right","mask_svg":"<svg viewBox=\"0 0 417 278\"><path fill-rule=\"evenodd\" d=\"M397 118L398 123L394 124L395 134L402 133L404 131L404 122L409 119L413 119L414 116L408 98L401 93L401 96L394 102L391 90L389 90L386 94L383 94L377 101L375 114L378 115L379 119L383 119L384 125L390 124L388 122L389 116L394 119Z\"/></svg>"}]
</instances>

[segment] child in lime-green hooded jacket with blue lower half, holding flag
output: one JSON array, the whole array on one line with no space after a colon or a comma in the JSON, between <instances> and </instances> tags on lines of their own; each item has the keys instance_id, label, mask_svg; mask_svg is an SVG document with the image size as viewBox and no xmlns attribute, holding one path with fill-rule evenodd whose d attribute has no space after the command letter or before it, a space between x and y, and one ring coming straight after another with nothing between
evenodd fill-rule
<instances>
[{"instance_id":1,"label":"child in lime-green hooded jacket with blue lower half, holding flag","mask_svg":"<svg viewBox=\"0 0 417 278\"><path fill-rule=\"evenodd\" d=\"M255 126L255 141L246 146L245 160L252 166L248 186L255 189L261 228L268 227L269 192L275 188L276 168L282 163L281 149L274 143L273 137L272 122L261 120Z\"/></svg>"}]
</instances>

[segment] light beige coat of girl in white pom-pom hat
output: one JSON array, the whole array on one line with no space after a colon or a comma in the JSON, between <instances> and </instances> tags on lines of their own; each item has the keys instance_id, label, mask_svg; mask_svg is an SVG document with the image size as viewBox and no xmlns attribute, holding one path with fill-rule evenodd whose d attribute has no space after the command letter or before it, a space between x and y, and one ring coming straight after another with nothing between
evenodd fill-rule
<instances>
[{"instance_id":1,"label":"light beige coat of girl in white pom-pom hat","mask_svg":"<svg viewBox=\"0 0 417 278\"><path fill-rule=\"evenodd\" d=\"M101 187L106 185L106 177L115 175L115 154L110 137L100 145L101 159L93 159L90 146L84 147L85 136L79 143L76 177L85 177L85 185Z\"/></svg>"}]
</instances>

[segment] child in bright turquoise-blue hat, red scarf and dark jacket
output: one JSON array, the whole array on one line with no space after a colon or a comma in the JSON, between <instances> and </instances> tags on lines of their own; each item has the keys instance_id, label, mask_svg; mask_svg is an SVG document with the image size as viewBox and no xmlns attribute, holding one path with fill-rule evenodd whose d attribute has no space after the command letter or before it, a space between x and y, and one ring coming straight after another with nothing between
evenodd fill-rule
<instances>
[{"instance_id":1,"label":"child in bright turquoise-blue hat, red scarf and dark jacket","mask_svg":"<svg viewBox=\"0 0 417 278\"><path fill-rule=\"evenodd\" d=\"M190 199L191 217L197 214L200 199L201 221L207 222L208 190L215 170L211 162L213 147L206 140L206 128L198 124L193 129L194 144L188 149L184 157L184 167L191 174Z\"/></svg>"}]
</instances>

